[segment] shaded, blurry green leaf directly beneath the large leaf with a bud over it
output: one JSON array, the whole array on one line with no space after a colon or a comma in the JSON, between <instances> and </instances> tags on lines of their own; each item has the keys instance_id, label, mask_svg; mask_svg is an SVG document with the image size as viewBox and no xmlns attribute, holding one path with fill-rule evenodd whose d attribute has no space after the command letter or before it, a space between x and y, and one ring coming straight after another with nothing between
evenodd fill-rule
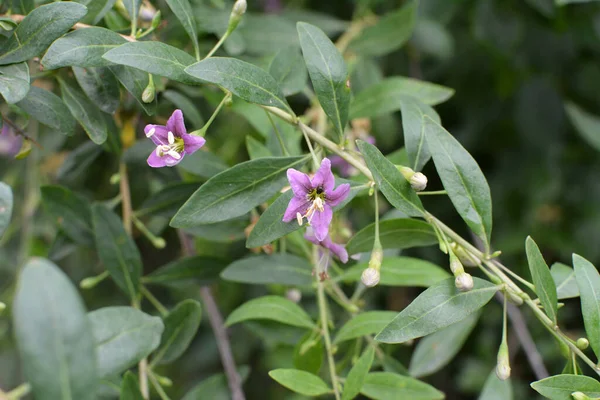
<instances>
[{"instance_id":1,"label":"shaded, blurry green leaf directly beneath the large leaf with a bud over it","mask_svg":"<svg viewBox=\"0 0 600 400\"><path fill-rule=\"evenodd\" d=\"M479 313L473 313L419 341L410 360L410 375L431 375L446 366L458 354L475 328Z\"/></svg>"}]
</instances>

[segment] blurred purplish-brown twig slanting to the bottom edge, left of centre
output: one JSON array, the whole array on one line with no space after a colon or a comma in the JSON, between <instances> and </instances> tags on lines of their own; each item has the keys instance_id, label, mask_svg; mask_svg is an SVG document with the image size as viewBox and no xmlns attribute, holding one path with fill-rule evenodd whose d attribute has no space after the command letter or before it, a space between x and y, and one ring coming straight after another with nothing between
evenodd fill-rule
<instances>
[{"instance_id":1,"label":"blurred purplish-brown twig slanting to the bottom edge, left of centre","mask_svg":"<svg viewBox=\"0 0 600 400\"><path fill-rule=\"evenodd\" d=\"M196 249L192 243L192 240L183 231L177 231L181 246L185 255L192 256L196 254ZM223 363L223 369L225 369L225 375L227 376L227 382L229 384L229 391L231 392L232 400L245 400L244 392L242 390L242 380L240 379L237 369L235 367L235 360L231 353L231 345L229 344L229 338L227 331L223 325L223 316L217 307L215 298L212 295L210 286L202 286L200 288L200 297L206 307L210 326L213 329L215 338L217 339L217 347L219 348L219 354L221 356L221 362Z\"/></svg>"}]
</instances>

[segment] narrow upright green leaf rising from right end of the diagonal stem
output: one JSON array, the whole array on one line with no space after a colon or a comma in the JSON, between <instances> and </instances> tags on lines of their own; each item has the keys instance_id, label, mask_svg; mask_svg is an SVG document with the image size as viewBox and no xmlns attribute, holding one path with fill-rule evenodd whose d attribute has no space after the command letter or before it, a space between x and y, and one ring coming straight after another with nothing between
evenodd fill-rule
<instances>
[{"instance_id":1,"label":"narrow upright green leaf rising from right end of the diagonal stem","mask_svg":"<svg viewBox=\"0 0 600 400\"><path fill-rule=\"evenodd\" d=\"M533 284L535 286L535 293L540 298L540 302L544 307L546 315L552 320L554 325L556 325L558 303L556 299L556 285L554 284L554 279L552 279L550 268L548 268L540 249L531 236L527 236L527 240L525 240L525 250L527 252L529 271L531 272L531 277L533 278Z\"/></svg>"}]
</instances>

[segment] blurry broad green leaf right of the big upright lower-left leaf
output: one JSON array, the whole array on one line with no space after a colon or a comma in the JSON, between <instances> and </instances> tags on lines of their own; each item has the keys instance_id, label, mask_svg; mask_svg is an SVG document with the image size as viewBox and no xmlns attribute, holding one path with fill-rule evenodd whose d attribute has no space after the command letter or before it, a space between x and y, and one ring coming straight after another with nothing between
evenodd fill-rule
<instances>
[{"instance_id":1,"label":"blurry broad green leaf right of the big upright lower-left leaf","mask_svg":"<svg viewBox=\"0 0 600 400\"><path fill-rule=\"evenodd\" d=\"M100 377L120 374L160 344L163 322L133 307L105 307L88 314Z\"/></svg>"}]
</instances>

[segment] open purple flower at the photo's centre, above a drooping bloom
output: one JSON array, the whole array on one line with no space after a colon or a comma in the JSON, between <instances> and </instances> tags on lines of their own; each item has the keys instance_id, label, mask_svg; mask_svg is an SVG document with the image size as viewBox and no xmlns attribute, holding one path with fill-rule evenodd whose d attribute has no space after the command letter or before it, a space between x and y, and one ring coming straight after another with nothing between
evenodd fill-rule
<instances>
[{"instance_id":1,"label":"open purple flower at the photo's centre, above a drooping bloom","mask_svg":"<svg viewBox=\"0 0 600 400\"><path fill-rule=\"evenodd\" d=\"M331 162L327 158L323 159L312 179L293 168L288 169L287 175L294 197L285 210L283 222L296 218L298 224L302 225L302 220L306 218L314 229L316 239L324 241L333 217L331 208L348 196L350 185L344 183L334 190L335 179L331 173Z\"/></svg>"}]
</instances>

